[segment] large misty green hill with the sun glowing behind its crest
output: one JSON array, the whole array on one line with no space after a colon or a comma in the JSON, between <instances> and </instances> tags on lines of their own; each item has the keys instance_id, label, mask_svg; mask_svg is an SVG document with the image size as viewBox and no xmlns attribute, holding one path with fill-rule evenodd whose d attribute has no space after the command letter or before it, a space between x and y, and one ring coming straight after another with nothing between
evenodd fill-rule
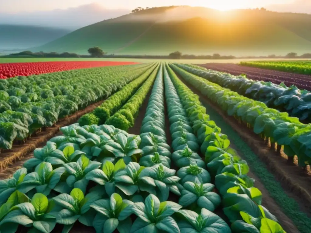
<instances>
[{"instance_id":1,"label":"large misty green hill with the sun glowing behind its crest","mask_svg":"<svg viewBox=\"0 0 311 233\"><path fill-rule=\"evenodd\" d=\"M86 54L99 46L113 54L267 55L311 52L311 15L258 10L220 12L160 7L105 20L33 49Z\"/></svg>"}]
</instances>

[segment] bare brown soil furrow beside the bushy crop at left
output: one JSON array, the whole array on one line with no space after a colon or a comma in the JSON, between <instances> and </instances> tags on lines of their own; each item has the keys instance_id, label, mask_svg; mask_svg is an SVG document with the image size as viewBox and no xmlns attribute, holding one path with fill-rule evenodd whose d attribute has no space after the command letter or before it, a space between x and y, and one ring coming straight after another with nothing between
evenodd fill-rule
<instances>
[{"instance_id":1,"label":"bare brown soil furrow beside the bushy crop at left","mask_svg":"<svg viewBox=\"0 0 311 233\"><path fill-rule=\"evenodd\" d=\"M0 178L5 179L11 176L14 171L19 169L22 164L33 156L35 148L42 147L46 141L56 136L61 127L73 124L79 120L84 114L92 112L96 107L100 106L104 100L91 104L90 106L82 109L71 116L60 119L55 126L48 127L42 130L35 136L28 139L24 144L13 145L12 149L3 151L0 154Z\"/></svg>"}]
</instances>

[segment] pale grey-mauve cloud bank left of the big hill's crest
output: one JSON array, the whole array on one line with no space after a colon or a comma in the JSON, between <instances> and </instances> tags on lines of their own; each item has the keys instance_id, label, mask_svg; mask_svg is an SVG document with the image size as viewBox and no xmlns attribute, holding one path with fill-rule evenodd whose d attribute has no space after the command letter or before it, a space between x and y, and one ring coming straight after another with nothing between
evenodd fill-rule
<instances>
[{"instance_id":1,"label":"pale grey-mauve cloud bank left of the big hill's crest","mask_svg":"<svg viewBox=\"0 0 311 233\"><path fill-rule=\"evenodd\" d=\"M115 18L130 13L124 9L105 9L100 4L91 3L65 10L3 13L0 9L1 24L37 25L53 28L76 30L99 21Z\"/></svg>"}]
</instances>

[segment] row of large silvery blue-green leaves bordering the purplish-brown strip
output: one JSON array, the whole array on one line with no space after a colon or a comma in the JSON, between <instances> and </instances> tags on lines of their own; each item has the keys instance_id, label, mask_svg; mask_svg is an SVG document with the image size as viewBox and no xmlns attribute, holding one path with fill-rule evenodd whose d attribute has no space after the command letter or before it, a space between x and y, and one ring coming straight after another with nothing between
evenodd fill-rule
<instances>
[{"instance_id":1,"label":"row of large silvery blue-green leaves bordering the purplish-brown strip","mask_svg":"<svg viewBox=\"0 0 311 233\"><path fill-rule=\"evenodd\" d=\"M183 64L177 66L245 97L263 102L268 107L288 112L292 117L311 120L311 93L307 90L299 90L294 85L286 87L284 84L254 81L243 75L234 76L213 70L202 70L199 66Z\"/></svg>"}]
</instances>

